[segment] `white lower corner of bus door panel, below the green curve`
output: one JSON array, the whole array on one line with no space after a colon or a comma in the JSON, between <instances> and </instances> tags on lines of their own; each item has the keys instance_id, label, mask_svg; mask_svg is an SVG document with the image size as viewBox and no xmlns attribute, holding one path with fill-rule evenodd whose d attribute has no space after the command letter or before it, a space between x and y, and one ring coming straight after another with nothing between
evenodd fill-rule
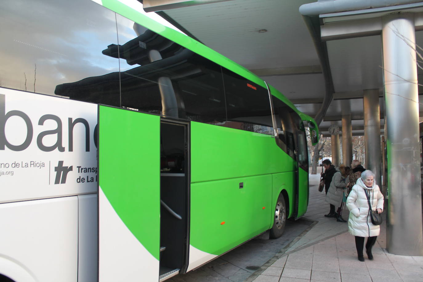
<instances>
[{"instance_id":1,"label":"white lower corner of bus door panel, below the green curve","mask_svg":"<svg viewBox=\"0 0 423 282\"><path fill-rule=\"evenodd\" d=\"M99 282L158 281L159 261L135 238L99 187Z\"/></svg>"}]
</instances>

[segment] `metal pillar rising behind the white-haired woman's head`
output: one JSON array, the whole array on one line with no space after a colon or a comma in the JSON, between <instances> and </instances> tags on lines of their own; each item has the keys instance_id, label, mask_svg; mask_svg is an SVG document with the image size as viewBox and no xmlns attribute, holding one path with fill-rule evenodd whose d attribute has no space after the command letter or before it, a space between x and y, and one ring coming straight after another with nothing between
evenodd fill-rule
<instances>
[{"instance_id":1,"label":"metal pillar rising behind the white-haired woman's head","mask_svg":"<svg viewBox=\"0 0 423 282\"><path fill-rule=\"evenodd\" d=\"M367 89L363 91L363 94L366 168L375 174L376 183L382 186L379 89Z\"/></svg>"}]
</instances>

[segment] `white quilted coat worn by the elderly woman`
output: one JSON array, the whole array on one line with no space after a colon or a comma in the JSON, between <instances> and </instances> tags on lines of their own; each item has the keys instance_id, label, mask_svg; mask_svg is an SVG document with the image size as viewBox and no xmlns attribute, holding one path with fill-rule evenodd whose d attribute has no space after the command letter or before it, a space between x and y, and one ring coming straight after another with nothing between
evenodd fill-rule
<instances>
[{"instance_id":1,"label":"white quilted coat worn by the elderly woman","mask_svg":"<svg viewBox=\"0 0 423 282\"><path fill-rule=\"evenodd\" d=\"M370 192L372 210L375 211L376 208L380 208L383 211L383 195L379 186L373 184L372 187L367 187L361 177L358 178L346 199L346 207L349 210L348 231L354 236L378 236L380 228L379 225L371 223L369 205L364 189Z\"/></svg>"}]
</instances>

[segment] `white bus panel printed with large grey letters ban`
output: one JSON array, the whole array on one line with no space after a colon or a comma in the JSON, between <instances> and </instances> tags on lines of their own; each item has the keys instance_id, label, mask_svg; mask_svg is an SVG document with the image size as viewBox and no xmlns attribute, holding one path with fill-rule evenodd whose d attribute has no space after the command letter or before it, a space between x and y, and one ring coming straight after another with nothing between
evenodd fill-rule
<instances>
[{"instance_id":1,"label":"white bus panel printed with large grey letters ban","mask_svg":"<svg viewBox=\"0 0 423 282\"><path fill-rule=\"evenodd\" d=\"M46 120L41 119L44 115L48 115ZM71 124L77 118L88 122L88 139L85 126L76 123L69 140L69 118ZM0 88L0 125L3 123L0 203L97 191L96 104Z\"/></svg>"}]
</instances>

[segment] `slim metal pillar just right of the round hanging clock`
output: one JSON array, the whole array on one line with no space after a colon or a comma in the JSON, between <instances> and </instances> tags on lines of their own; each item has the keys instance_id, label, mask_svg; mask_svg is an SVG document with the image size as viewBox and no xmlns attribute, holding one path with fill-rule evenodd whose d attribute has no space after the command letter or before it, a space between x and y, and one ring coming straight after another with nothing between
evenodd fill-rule
<instances>
[{"instance_id":1,"label":"slim metal pillar just right of the round hanging clock","mask_svg":"<svg viewBox=\"0 0 423 282\"><path fill-rule=\"evenodd\" d=\"M342 162L349 166L352 162L352 127L349 100L341 101L342 110Z\"/></svg>"}]
</instances>

